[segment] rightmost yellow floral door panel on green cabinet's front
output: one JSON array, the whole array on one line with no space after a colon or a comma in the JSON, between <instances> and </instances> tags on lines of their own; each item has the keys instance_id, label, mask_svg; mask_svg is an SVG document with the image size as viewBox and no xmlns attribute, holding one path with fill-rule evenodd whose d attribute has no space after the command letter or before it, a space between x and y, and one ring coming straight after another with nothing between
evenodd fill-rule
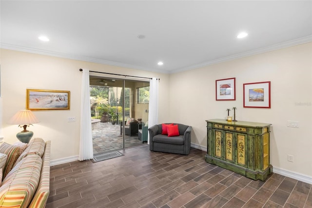
<instances>
[{"instance_id":1,"label":"rightmost yellow floral door panel on green cabinet's front","mask_svg":"<svg viewBox=\"0 0 312 208\"><path fill-rule=\"evenodd\" d=\"M235 164L247 167L247 134L235 133Z\"/></svg>"}]
</instances>

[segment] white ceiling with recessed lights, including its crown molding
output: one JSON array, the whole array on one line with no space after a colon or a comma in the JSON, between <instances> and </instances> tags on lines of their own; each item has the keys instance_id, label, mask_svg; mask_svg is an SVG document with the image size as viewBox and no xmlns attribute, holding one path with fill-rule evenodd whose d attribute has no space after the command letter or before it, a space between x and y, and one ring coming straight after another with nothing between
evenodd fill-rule
<instances>
[{"instance_id":1,"label":"white ceiling with recessed lights, including its crown molding","mask_svg":"<svg viewBox=\"0 0 312 208\"><path fill-rule=\"evenodd\" d=\"M160 73L312 41L312 0L1 0L0 12L1 48Z\"/></svg>"}]
</instances>

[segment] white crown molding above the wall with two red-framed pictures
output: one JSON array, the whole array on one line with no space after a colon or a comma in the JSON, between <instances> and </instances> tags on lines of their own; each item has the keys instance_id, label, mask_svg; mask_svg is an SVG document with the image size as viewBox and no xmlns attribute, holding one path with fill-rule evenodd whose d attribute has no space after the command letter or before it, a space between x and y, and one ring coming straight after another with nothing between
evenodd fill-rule
<instances>
[{"instance_id":1,"label":"white crown molding above the wall with two red-framed pictures","mask_svg":"<svg viewBox=\"0 0 312 208\"><path fill-rule=\"evenodd\" d=\"M303 43L307 43L307 42L312 42L312 35L306 36L303 38L294 39L294 40L287 41L287 42L281 42L278 44L270 45L268 47L258 48L258 49L247 51L244 53L235 54L233 56L227 56L227 57L215 59L215 60L212 60L209 62L198 63L198 64L187 66L184 68L172 70L170 72L170 74L174 74L174 73L178 73L178 72L182 72L182 71L188 71L191 69L200 68L200 67L204 67L204 66L209 66L209 65L216 64L216 63L228 62L228 61L232 61L235 59L253 56L256 54L260 54L260 53L266 53L266 52L270 52L270 51L274 51L274 50L278 50L278 49L282 49L282 48L287 48L287 47L291 47L294 45L299 45L299 44L303 44Z\"/></svg>"}]
</instances>

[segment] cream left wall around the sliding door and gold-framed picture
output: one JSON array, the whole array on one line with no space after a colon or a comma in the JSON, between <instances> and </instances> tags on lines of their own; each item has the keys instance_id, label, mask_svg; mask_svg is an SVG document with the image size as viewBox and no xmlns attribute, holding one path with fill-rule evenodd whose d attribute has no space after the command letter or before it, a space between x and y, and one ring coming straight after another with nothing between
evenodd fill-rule
<instances>
[{"instance_id":1,"label":"cream left wall around the sliding door and gold-framed picture","mask_svg":"<svg viewBox=\"0 0 312 208\"><path fill-rule=\"evenodd\" d=\"M91 62L81 62L45 55L1 49L1 97L2 97L2 135L3 141L13 144L16 133L22 129L8 125L9 119L26 106L26 88L69 90L71 92L70 110L33 111L39 124L28 127L34 137L51 140L51 160L59 160L79 154L80 94L82 73L79 68L108 73L160 78L159 105L162 112L159 119L164 120L168 110L169 75L157 74L129 68L109 66ZM68 117L76 117L76 122L67 122Z\"/></svg>"}]
</instances>

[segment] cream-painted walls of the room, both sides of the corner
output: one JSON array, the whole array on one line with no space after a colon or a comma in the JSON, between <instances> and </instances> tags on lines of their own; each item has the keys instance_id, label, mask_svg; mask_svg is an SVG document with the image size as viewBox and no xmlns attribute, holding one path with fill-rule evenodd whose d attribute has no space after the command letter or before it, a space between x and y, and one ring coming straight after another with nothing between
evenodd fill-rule
<instances>
[{"instance_id":1,"label":"cream-painted walls of the room, both sides of the corner","mask_svg":"<svg viewBox=\"0 0 312 208\"><path fill-rule=\"evenodd\" d=\"M207 146L207 119L225 118L271 123L274 168L312 177L312 43L301 44L172 75L1 49L2 135L17 141L21 129L7 121L25 108L26 88L71 91L70 110L34 111L41 121L30 126L35 137L52 141L51 159L78 155L80 123L79 68L141 77L158 77L159 123L193 126L192 143ZM215 101L215 80L236 78L236 100ZM271 81L271 109L243 108L243 83ZM301 103L301 104L300 104ZM233 114L233 111L231 111ZM76 122L68 123L68 117ZM299 121L299 128L287 121ZM293 155L294 162L287 161Z\"/></svg>"}]
</instances>

